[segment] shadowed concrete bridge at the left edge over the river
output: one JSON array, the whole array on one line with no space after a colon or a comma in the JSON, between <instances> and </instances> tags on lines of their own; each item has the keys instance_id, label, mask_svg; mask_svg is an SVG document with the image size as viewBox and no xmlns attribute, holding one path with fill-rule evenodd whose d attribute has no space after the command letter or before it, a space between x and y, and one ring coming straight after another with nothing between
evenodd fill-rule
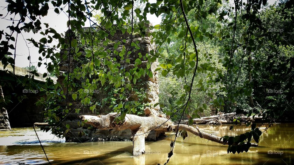
<instances>
[{"instance_id":1,"label":"shadowed concrete bridge at the left edge over the river","mask_svg":"<svg viewBox=\"0 0 294 165\"><path fill-rule=\"evenodd\" d=\"M38 73L32 81L36 86L46 85L46 79L51 78L53 83L57 82L56 77L46 76ZM14 72L10 65L4 67L0 64L0 129L9 129L10 127L32 127L35 122L43 122L44 116L41 112L46 108L44 105L36 106L35 103L44 97L44 93L38 88L32 88L28 81L28 69L15 66ZM53 88L51 86L47 86ZM4 108L5 107L5 108Z\"/></svg>"}]
</instances>

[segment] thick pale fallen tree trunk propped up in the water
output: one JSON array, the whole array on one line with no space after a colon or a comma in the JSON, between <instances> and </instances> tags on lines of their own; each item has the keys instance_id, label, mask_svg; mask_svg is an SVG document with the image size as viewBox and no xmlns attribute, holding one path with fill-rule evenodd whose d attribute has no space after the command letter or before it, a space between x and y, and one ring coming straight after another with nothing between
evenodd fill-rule
<instances>
[{"instance_id":1,"label":"thick pale fallen tree trunk propped up in the water","mask_svg":"<svg viewBox=\"0 0 294 165\"><path fill-rule=\"evenodd\" d=\"M124 121L116 122L116 118L120 114L109 113L107 115L99 116L80 116L82 121L88 123L100 130L125 130L130 129L133 134L133 155L139 156L145 153L145 137L151 130L163 131L163 132L176 132L179 130L186 130L194 135L199 136L210 141L214 141L220 144L228 145L228 142L223 138L208 134L200 131L198 128L194 128L185 124L174 124L169 119L158 117L154 115L150 108L145 108L146 117L126 114ZM251 143L251 146L257 147L256 143Z\"/></svg>"}]
</instances>

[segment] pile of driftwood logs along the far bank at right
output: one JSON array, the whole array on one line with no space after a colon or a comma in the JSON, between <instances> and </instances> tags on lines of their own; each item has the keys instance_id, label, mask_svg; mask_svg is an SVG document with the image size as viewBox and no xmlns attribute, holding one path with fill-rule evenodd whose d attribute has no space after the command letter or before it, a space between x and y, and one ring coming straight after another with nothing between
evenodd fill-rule
<instances>
[{"instance_id":1,"label":"pile of driftwood logs along the far bank at right","mask_svg":"<svg viewBox=\"0 0 294 165\"><path fill-rule=\"evenodd\" d=\"M238 119L240 123L252 122L256 119L262 119L262 116L255 115L253 116L244 116L236 115L236 112L233 113L220 113L219 115L202 117L200 119L193 119L194 124L232 124L234 119ZM183 120L181 123L187 124L189 120Z\"/></svg>"}]
</instances>

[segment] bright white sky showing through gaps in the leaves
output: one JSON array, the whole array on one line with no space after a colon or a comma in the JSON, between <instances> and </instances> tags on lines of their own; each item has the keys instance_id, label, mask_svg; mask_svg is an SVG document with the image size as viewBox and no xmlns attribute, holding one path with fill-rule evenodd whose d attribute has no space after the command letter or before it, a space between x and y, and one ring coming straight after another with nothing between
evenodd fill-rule
<instances>
[{"instance_id":1,"label":"bright white sky showing through gaps in the leaves","mask_svg":"<svg viewBox=\"0 0 294 165\"><path fill-rule=\"evenodd\" d=\"M233 0L230 0L230 2L233 2ZM149 0L150 3L156 3L156 0ZM275 2L275 0L269 0L268 1L269 4L273 4ZM51 5L51 3L49 3ZM0 14L3 14L4 16L6 15L6 11L7 9L5 9L4 7L6 7L8 5L7 2L0 0ZM42 23L48 23L49 27L54 28L57 32L59 33L64 33L67 30L67 26L66 26L66 22L68 20L68 16L66 13L60 12L60 14L57 14L54 12L54 8L53 6L49 6L50 9L48 11L47 16L45 17L41 17L41 22ZM63 6L62 6L63 7ZM8 15L6 16L6 19L8 20L4 20L4 19L0 19L1 20L1 24L0 24L0 30L4 29L4 32L10 33L9 30L6 29L7 26L11 25L13 23L13 21L10 20L10 17L13 17L13 15ZM17 17L14 18L16 21L14 21L14 23L17 23ZM156 24L160 24L161 18L159 16L156 17L155 14L151 15L150 13L147 14L147 19L150 21L151 24L156 25ZM86 22L85 26L89 27L89 20ZM42 26L42 29L46 29L45 25ZM29 60L28 60L28 55L30 53L31 55L31 62L32 65L37 66L39 60L38 58L41 56L38 53L38 48L34 47L32 44L29 44L27 40L25 39L30 39L33 38L36 41L39 41L39 39L43 38L43 35L40 35L39 33L34 34L33 32L22 32L23 36L21 34L18 35L18 37L16 37L16 34L14 34L14 38L17 38L17 46L16 46L16 66L18 67L26 67L29 66ZM26 42L28 44L28 46L26 45ZM11 44L15 44L15 43L11 43ZM56 44L56 42L52 42L51 44ZM49 45L51 46L51 45ZM14 54L14 51L11 51ZM45 61L42 61L45 62ZM47 60L47 63L50 62L50 60ZM40 68L37 68L38 72L40 73L44 73L47 72L47 69L45 68L45 65L42 65Z\"/></svg>"}]
</instances>

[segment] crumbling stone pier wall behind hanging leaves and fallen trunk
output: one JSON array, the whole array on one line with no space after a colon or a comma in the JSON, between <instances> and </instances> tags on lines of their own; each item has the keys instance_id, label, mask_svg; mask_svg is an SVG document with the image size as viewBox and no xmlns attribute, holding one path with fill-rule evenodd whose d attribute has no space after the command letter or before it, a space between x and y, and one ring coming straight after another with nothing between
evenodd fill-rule
<instances>
[{"instance_id":1,"label":"crumbling stone pier wall behind hanging leaves and fallen trunk","mask_svg":"<svg viewBox=\"0 0 294 165\"><path fill-rule=\"evenodd\" d=\"M73 34L73 33L72 33ZM126 70L130 70L134 68L135 60L139 58L142 63L138 66L138 68L147 68L147 62L144 60L144 56L146 53L150 52L151 50L155 50L155 46L153 43L151 43L151 38L149 37L149 32L146 33L145 37L141 37L138 35L134 35L133 37L133 42L139 41L138 46L141 48L141 50L133 50L132 47L130 47L129 51L132 51L131 54L129 54L126 58L130 60L130 64L126 63L124 60L120 60L120 57L117 57L114 52L114 44L109 44L107 46L108 49L112 50L112 56L116 57L118 59L118 62L121 64L121 67L126 68ZM75 36L71 36L72 38L75 38ZM131 44L131 39L130 39L130 34L122 34L121 31L118 31L114 37L109 36L108 37L110 40L114 42L118 42L118 39L126 39L127 44L120 44L116 51L121 52L123 49L123 45L126 47L126 50L129 49L129 45ZM139 53L141 53L142 57L139 57ZM82 52L82 55L85 55L85 52ZM62 57L62 52L61 52L61 57ZM145 58L146 59L146 58ZM67 74L67 72L70 70L72 71L75 67L80 66L81 64L78 64L76 60L74 60L73 57L70 57L68 61L68 58L62 58L61 62L59 63L59 70L61 72L64 72ZM68 63L70 63L70 66L68 66ZM159 102L159 84L158 84L158 73L155 71L155 69L158 66L158 62L155 61L151 63L151 68L150 71L153 73L153 77L150 78L148 76L141 76L141 79L146 81L144 83L143 88L146 88L145 94L146 94L146 100L145 102L150 103L151 105L154 105ZM70 68L69 68L70 67ZM66 86L63 85L63 80L64 76L59 75L57 82L59 82L62 85L63 90L66 92ZM107 94L99 93L99 96L96 97L107 97ZM70 97L71 98L71 97ZM136 100L136 95L130 95L130 99ZM77 103L78 105L79 103ZM76 107L72 107L76 108ZM79 107L80 108L80 107ZM105 109L100 109L100 112L109 112L110 110L108 107L104 107ZM153 114L159 115L159 110L160 107L157 105L156 107L153 108L153 106L150 107L151 111ZM77 123L80 121L78 116L80 115L97 115L97 114L91 114L92 112L89 109L81 109L79 114L70 114L70 117L67 117L67 121L64 122L65 124L70 125L71 129L71 136L66 137L66 141L74 141L74 142L84 142L84 141L107 141L107 140L117 140L117 141L122 141L122 140L131 140L132 139L132 134L130 130L96 130L93 128L92 130L86 129L88 126L84 127L79 127ZM83 134L81 134L83 132ZM82 136L81 136L82 135ZM146 140L149 141L155 141L158 140L162 135L164 135L164 132L160 131L151 131L149 134L146 134Z\"/></svg>"}]
</instances>

